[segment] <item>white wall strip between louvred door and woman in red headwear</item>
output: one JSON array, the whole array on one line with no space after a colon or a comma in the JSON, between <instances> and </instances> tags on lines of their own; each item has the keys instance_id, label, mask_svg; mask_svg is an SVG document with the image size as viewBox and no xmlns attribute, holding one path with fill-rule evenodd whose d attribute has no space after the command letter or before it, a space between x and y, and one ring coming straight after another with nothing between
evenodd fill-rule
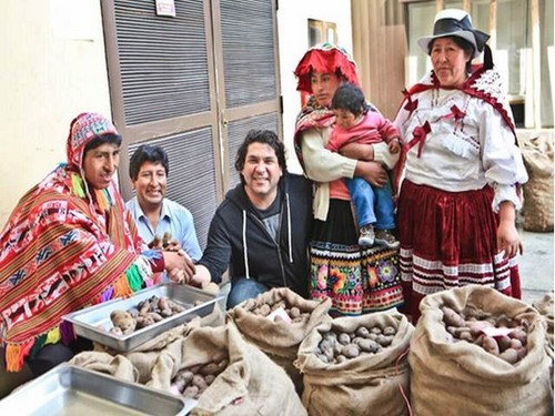
<instances>
[{"instance_id":1,"label":"white wall strip between louvred door and woman in red headwear","mask_svg":"<svg viewBox=\"0 0 555 416\"><path fill-rule=\"evenodd\" d=\"M309 19L336 23L337 43L352 53L351 0L280 0L279 6L283 136L289 154L289 171L300 173L301 168L293 150L293 132L295 118L301 111L301 95L296 91L293 71L309 48Z\"/></svg>"}]
</instances>

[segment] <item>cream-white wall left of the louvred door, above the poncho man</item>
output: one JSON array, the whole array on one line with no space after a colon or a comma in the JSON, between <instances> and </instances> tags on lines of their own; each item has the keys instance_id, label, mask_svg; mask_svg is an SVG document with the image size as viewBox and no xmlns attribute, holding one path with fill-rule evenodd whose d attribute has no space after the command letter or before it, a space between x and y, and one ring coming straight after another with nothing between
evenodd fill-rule
<instances>
[{"instance_id":1,"label":"cream-white wall left of the louvred door, above the poncho man","mask_svg":"<svg viewBox=\"0 0 555 416\"><path fill-rule=\"evenodd\" d=\"M0 0L0 27L1 229L65 161L71 120L111 111L99 0Z\"/></svg>"}]
</instances>

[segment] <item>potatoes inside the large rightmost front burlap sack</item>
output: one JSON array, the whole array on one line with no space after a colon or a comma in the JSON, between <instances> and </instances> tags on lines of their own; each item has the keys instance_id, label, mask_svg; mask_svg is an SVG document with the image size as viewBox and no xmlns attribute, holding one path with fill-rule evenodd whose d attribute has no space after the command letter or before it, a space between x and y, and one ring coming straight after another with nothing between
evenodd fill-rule
<instances>
[{"instance_id":1,"label":"potatoes inside the large rightmost front burlap sack","mask_svg":"<svg viewBox=\"0 0 555 416\"><path fill-rule=\"evenodd\" d=\"M446 305L443 305L441 310L447 328L448 342L464 341L476 344L509 364L515 364L526 356L528 352L526 325L505 315L491 316L477 311L458 313ZM486 334L495 332L495 328L507 328L507 334L495 336Z\"/></svg>"}]
</instances>

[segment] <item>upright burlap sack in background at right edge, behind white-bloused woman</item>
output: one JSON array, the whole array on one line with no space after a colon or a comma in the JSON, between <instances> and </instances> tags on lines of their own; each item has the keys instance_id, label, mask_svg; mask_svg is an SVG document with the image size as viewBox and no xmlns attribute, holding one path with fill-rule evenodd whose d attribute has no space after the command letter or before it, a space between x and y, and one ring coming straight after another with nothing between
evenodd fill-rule
<instances>
[{"instance_id":1,"label":"upright burlap sack in background at right edge, behind white-bloused woman","mask_svg":"<svg viewBox=\"0 0 555 416\"><path fill-rule=\"evenodd\" d=\"M521 138L528 182L524 184L524 230L553 231L553 133Z\"/></svg>"}]
</instances>

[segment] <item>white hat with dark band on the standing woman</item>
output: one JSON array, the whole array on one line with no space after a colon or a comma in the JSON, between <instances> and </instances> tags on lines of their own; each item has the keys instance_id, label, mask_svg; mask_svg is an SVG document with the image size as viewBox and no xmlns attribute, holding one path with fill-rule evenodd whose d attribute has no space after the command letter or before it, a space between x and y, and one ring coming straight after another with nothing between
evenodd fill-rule
<instances>
[{"instance_id":1,"label":"white hat with dark band on the standing woman","mask_svg":"<svg viewBox=\"0 0 555 416\"><path fill-rule=\"evenodd\" d=\"M430 42L445 37L458 37L468 41L474 47L473 59L480 57L485 42L490 39L490 34L472 27L472 18L467 12L458 9L445 9L435 16L434 34L420 38L417 43L428 54Z\"/></svg>"}]
</instances>

